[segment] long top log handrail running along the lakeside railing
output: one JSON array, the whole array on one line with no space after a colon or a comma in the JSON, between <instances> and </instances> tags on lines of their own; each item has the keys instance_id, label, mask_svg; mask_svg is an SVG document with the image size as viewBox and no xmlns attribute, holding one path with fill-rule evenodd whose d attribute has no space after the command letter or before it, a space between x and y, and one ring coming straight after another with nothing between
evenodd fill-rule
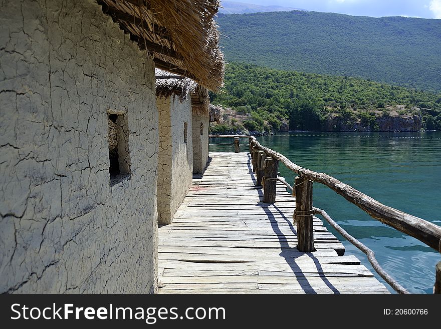
<instances>
[{"instance_id":1,"label":"long top log handrail running along the lakeside railing","mask_svg":"<svg viewBox=\"0 0 441 329\"><path fill-rule=\"evenodd\" d=\"M297 173L301 178L323 184L331 190L343 196L346 200L365 211L372 218L389 225L398 231L408 234L429 247L441 252L441 227L422 218L407 214L403 211L386 206L374 198L356 190L338 179L325 173L318 173L307 168L296 165L283 154L270 148L262 146L254 136L248 135L209 135L209 137L240 137L250 138L253 146L257 146L264 151L267 156L281 161L285 167Z\"/></svg>"}]
</instances>

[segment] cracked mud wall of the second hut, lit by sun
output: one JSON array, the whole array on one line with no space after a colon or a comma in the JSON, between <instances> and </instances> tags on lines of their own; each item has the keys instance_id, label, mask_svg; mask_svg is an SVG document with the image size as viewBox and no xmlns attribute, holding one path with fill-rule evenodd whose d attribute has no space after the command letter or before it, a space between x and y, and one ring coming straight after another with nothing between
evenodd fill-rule
<instances>
[{"instance_id":1,"label":"cracked mud wall of the second hut, lit by sun","mask_svg":"<svg viewBox=\"0 0 441 329\"><path fill-rule=\"evenodd\" d=\"M191 137L191 100L182 103L172 95L156 100L159 113L158 222L169 224L191 186L193 142ZM184 123L187 142L184 143Z\"/></svg>"}]
</instances>

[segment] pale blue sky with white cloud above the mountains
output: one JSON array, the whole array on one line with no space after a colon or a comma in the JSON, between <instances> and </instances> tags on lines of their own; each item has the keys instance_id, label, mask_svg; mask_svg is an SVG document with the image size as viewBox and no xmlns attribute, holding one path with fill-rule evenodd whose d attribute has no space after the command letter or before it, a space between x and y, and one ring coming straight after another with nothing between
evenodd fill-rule
<instances>
[{"instance_id":1,"label":"pale blue sky with white cloud above the mountains","mask_svg":"<svg viewBox=\"0 0 441 329\"><path fill-rule=\"evenodd\" d=\"M405 16L441 19L441 0L232 0L255 5L278 5L315 12L353 16Z\"/></svg>"}]
</instances>

